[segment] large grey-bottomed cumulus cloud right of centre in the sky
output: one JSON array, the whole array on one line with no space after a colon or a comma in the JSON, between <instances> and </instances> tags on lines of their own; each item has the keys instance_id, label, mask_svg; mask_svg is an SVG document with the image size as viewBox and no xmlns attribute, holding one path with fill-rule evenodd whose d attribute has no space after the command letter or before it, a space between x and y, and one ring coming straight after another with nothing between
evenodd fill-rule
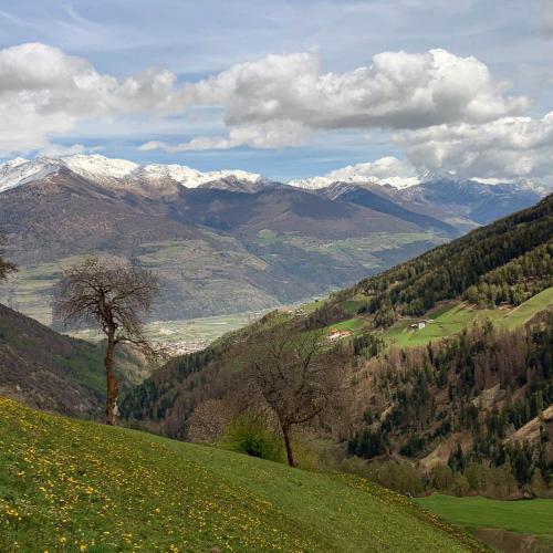
<instances>
[{"instance_id":1,"label":"large grey-bottomed cumulus cloud right of centre in the sky","mask_svg":"<svg viewBox=\"0 0 553 553\"><path fill-rule=\"evenodd\" d=\"M268 55L181 91L174 105L222 106L230 132L228 138L178 147L280 147L286 145L289 128L294 132L288 133L288 144L293 145L317 131L482 123L528 107L525 97L510 97L505 90L476 58L445 50L384 52L368 67L341 74L322 73L311 53Z\"/></svg>"}]
</instances>

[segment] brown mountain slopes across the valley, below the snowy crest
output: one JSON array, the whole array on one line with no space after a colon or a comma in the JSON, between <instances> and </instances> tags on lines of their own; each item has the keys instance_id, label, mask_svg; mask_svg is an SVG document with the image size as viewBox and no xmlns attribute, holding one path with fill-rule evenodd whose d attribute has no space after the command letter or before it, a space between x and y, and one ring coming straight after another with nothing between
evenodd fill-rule
<instances>
[{"instance_id":1,"label":"brown mountain slopes across the valley, below the snowy crest","mask_svg":"<svg viewBox=\"0 0 553 553\"><path fill-rule=\"evenodd\" d=\"M115 169L127 170L115 166L112 180ZM181 320L321 294L445 240L387 213L259 179L192 189L165 178L91 180L90 167L84 178L67 164L46 169L0 194L0 232L20 265L0 301L48 324L61 268L90 253L158 272L154 319Z\"/></svg>"}]
</instances>

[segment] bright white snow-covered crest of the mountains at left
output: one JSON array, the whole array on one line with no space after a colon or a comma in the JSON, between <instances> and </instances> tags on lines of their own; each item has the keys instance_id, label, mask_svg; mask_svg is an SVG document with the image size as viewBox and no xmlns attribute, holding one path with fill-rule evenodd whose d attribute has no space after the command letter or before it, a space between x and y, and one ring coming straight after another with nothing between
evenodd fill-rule
<instances>
[{"instance_id":1,"label":"bright white snow-covered crest of the mountains at left","mask_svg":"<svg viewBox=\"0 0 553 553\"><path fill-rule=\"evenodd\" d=\"M33 160L15 158L0 165L0 191L14 188L30 180L46 177L69 168L71 171L101 186L113 188L159 188L178 184L197 188L207 182L232 178L249 185L264 185L265 177L244 170L202 173L185 165L138 165L126 159L112 159L101 155L75 155L63 158L38 157ZM228 186L228 182L225 184Z\"/></svg>"}]
</instances>

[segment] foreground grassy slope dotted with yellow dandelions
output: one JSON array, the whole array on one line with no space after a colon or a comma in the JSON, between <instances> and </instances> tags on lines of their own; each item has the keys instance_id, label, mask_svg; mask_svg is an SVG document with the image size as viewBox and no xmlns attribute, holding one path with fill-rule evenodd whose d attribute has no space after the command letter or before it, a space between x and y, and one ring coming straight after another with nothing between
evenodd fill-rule
<instances>
[{"instance_id":1,"label":"foreground grassy slope dotted with yellow dandelions","mask_svg":"<svg viewBox=\"0 0 553 553\"><path fill-rule=\"evenodd\" d=\"M0 551L478 551L365 480L0 397Z\"/></svg>"}]
</instances>

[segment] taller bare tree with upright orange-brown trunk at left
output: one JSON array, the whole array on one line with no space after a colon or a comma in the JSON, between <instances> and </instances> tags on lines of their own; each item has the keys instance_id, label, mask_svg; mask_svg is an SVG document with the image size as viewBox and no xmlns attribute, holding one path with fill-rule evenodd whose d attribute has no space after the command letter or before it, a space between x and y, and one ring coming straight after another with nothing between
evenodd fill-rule
<instances>
[{"instance_id":1,"label":"taller bare tree with upright orange-brown trunk at left","mask_svg":"<svg viewBox=\"0 0 553 553\"><path fill-rule=\"evenodd\" d=\"M119 343L131 343L145 355L154 355L144 335L142 316L152 310L157 290L157 279L150 271L96 257L66 269L58 286L54 314L65 322L92 323L107 338L104 365L108 425L118 421L115 347Z\"/></svg>"}]
</instances>

